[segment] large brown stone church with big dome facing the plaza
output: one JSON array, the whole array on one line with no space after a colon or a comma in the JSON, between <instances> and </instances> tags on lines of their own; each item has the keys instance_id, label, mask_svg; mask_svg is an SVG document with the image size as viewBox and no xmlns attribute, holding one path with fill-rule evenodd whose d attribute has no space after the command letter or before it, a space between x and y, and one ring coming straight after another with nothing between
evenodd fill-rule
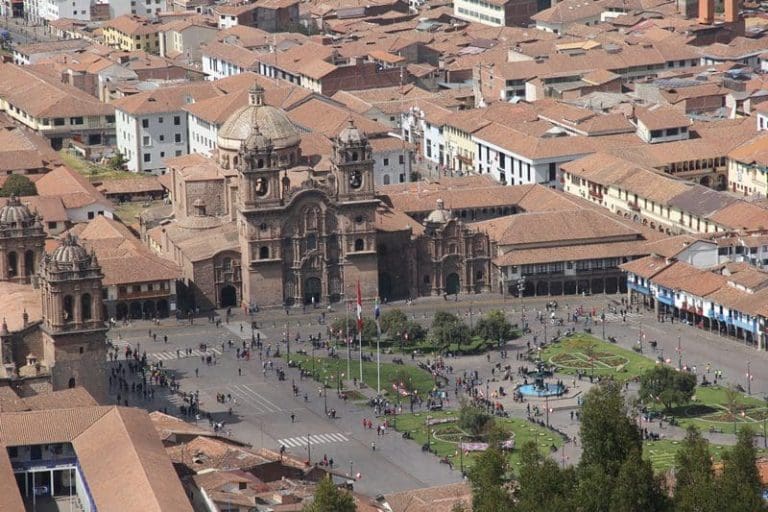
<instances>
[{"instance_id":1,"label":"large brown stone church with big dome facing the plaza","mask_svg":"<svg viewBox=\"0 0 768 512\"><path fill-rule=\"evenodd\" d=\"M328 168L303 165L301 134L264 103L218 131L212 158L168 161L172 212L142 216L142 236L184 274L181 308L326 304L489 291L487 235L439 206L424 225L374 190L372 149L349 121Z\"/></svg>"}]
</instances>

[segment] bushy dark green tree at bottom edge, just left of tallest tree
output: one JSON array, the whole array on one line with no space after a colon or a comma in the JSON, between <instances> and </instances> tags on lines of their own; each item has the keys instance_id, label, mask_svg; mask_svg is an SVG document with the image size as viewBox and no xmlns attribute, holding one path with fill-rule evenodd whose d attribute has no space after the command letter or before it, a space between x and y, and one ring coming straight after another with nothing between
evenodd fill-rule
<instances>
[{"instance_id":1,"label":"bushy dark green tree at bottom edge, just left of tallest tree","mask_svg":"<svg viewBox=\"0 0 768 512\"><path fill-rule=\"evenodd\" d=\"M573 468L560 469L545 457L534 441L520 449L520 491L516 512L560 512L573 510L575 474Z\"/></svg>"}]
</instances>

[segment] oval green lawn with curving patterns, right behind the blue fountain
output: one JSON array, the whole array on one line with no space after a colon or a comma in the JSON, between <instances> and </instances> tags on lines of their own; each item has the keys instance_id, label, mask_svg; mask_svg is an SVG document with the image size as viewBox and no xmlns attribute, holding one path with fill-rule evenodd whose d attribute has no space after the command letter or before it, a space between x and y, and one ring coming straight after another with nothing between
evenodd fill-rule
<instances>
[{"instance_id":1,"label":"oval green lawn with curving patterns, right behind the blue fountain","mask_svg":"<svg viewBox=\"0 0 768 512\"><path fill-rule=\"evenodd\" d=\"M656 365L642 354L584 333L548 344L540 357L557 365L559 373L575 375L581 371L586 375L612 376L619 381L633 379Z\"/></svg>"}]
</instances>

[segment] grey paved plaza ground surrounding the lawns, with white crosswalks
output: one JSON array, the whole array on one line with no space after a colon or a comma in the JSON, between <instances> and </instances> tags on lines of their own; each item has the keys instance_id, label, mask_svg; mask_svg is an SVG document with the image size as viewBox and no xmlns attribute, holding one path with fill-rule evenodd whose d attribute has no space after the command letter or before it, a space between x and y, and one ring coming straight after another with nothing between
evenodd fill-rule
<instances>
[{"instance_id":1,"label":"grey paved plaza ground surrounding the lawns, with white crosswalks","mask_svg":"<svg viewBox=\"0 0 768 512\"><path fill-rule=\"evenodd\" d=\"M536 312L542 311L549 299L525 299L526 321L536 318ZM723 372L725 381L732 384L740 384L745 389L747 362L750 362L753 380L749 388L753 395L762 397L768 392L768 354L758 352L753 347L745 346L736 340L723 338L716 334L702 331L692 326L680 323L659 323L653 312L645 312L642 308L636 311L634 308L626 316L626 320L618 313L613 313L613 308L620 307L621 296L591 296L591 297L559 297L558 316L567 318L574 308L582 308L583 311L594 311L596 317L606 311L606 323L584 325L583 323L566 323L563 326L547 323L547 337L552 337L564 332L568 327L582 330L585 327L592 330L593 335L603 337L613 336L617 344L625 348L631 348L643 340L643 354L651 359L662 356L670 364L676 365L678 355L683 365L696 367L701 377L705 372L707 363L710 363L712 371ZM434 313L446 310L461 315L468 323L474 323L481 315L491 309L503 309L507 318L512 323L520 321L521 301L515 298L501 298L498 296L475 296L471 300L468 297L459 297L458 301L437 299L419 299L410 305L404 303L383 305L382 309L398 307L405 311L416 321L428 326ZM458 471L453 471L448 466L439 464L436 457L422 453L416 445L404 440L394 431L387 432L384 436L378 436L375 429L365 429L362 419L373 419L373 410L364 401L341 400L334 389L328 389L327 396L323 396L318 384L309 379L302 379L295 369L287 368L285 361L280 358L272 358L272 371L265 371L263 364L268 359L260 358L256 352L250 360L238 359L236 349L242 346L243 341L250 344L252 337L258 336L264 347L271 347L272 353L278 347L281 353L287 349L281 340L286 330L291 342L291 350L311 350L307 339L310 335L321 334L326 337L326 327L321 323L325 314L327 324L334 318L344 315L341 310L328 311L325 309L294 308L286 314L282 309L260 311L253 317L242 312L233 311L229 322L224 321L226 313L220 312L222 321L217 326L206 318L197 318L193 324L188 321L176 321L166 319L160 325L151 322L134 322L129 325L120 325L110 331L110 339L118 349L124 352L126 347L147 352L150 363L161 363L164 368L172 370L183 392L198 392L200 407L205 412L211 412L216 422L224 422L225 433L231 433L233 437L243 440L256 448L265 447L273 450L285 446L290 454L299 459L312 461L322 460L323 457L333 459L335 467L344 474L360 474L356 482L356 488L361 492L378 494L395 492L405 489L438 485L459 480ZM366 313L369 313L366 311ZM251 322L255 321L257 329L251 329ZM529 323L532 332L519 340L507 345L508 358L500 359L498 352L490 354L490 361L486 355L465 356L452 358L450 365L455 375L461 375L465 370L478 370L483 381L490 379L492 385L504 386L511 390L519 378L514 377L513 382L498 382L498 373L491 375L491 367L501 362L503 365L511 365L516 368L519 364L525 364L516 360L517 354L526 349L527 343L533 343L534 336L537 341L545 338L545 326L540 322ZM156 334L156 338L150 335ZM642 333L642 335L641 335ZM300 341L295 341L299 335ZM167 342L165 337L167 336ZM156 341L155 341L156 339ZM230 346L229 342L232 342ZM656 349L651 348L651 341L656 341ZM201 344L205 344L205 351ZM678 344L681 351L677 351ZM318 356L324 356L325 351L318 351ZM206 358L210 356L211 364ZM353 354L353 375L355 374L355 354ZM393 356L383 355L382 360L388 361ZM397 357L395 355L394 357ZM415 361L404 358L407 364L412 364L426 357L417 357ZM214 364L215 362L215 364ZM275 368L286 370L285 380L279 381ZM577 437L578 421L571 412L578 409L578 400L590 383L588 380L578 381L572 376L563 376L571 387L571 392L563 399L550 399L548 401L551 413L549 423L551 426L564 432L570 438ZM292 385L298 388L298 394L294 395ZM351 388L352 382L345 382L344 386ZM636 385L629 385L632 393ZM369 394L370 390L367 391ZM219 403L217 395L229 395L231 401ZM306 399L305 399L306 395ZM117 399L113 390L112 398ZM125 397L121 397L125 400ZM139 394L131 394L128 397L129 404L146 407L149 410L167 408L171 414L179 414L180 406L184 402L180 394L169 393L164 388L158 388L158 394L154 399L144 399ZM502 398L505 409L513 416L525 417L526 404L515 403L511 395ZM542 400L530 400L531 404ZM230 414L229 409L232 409ZM326 410L335 409L335 419L326 415ZM192 418L190 421L195 421ZM201 422L206 421L201 419ZM681 429L658 424L644 425L650 431L658 432L664 438L681 438ZM714 442L731 443L733 436L706 433ZM371 443L375 443L376 450L371 449ZM566 443L564 448L555 454L562 462L574 462L579 456L579 444Z\"/></svg>"}]
</instances>

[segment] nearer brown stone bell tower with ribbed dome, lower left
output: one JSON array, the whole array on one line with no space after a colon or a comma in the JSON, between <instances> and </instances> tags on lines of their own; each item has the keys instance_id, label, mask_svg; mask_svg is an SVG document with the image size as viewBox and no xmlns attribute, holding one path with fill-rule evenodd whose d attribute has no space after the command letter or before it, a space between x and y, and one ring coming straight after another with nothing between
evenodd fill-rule
<instances>
[{"instance_id":1,"label":"nearer brown stone bell tower with ribbed dome, lower left","mask_svg":"<svg viewBox=\"0 0 768 512\"><path fill-rule=\"evenodd\" d=\"M96 254L72 235L43 257L39 277L53 389L83 386L101 403L107 394L103 277Z\"/></svg>"}]
</instances>

